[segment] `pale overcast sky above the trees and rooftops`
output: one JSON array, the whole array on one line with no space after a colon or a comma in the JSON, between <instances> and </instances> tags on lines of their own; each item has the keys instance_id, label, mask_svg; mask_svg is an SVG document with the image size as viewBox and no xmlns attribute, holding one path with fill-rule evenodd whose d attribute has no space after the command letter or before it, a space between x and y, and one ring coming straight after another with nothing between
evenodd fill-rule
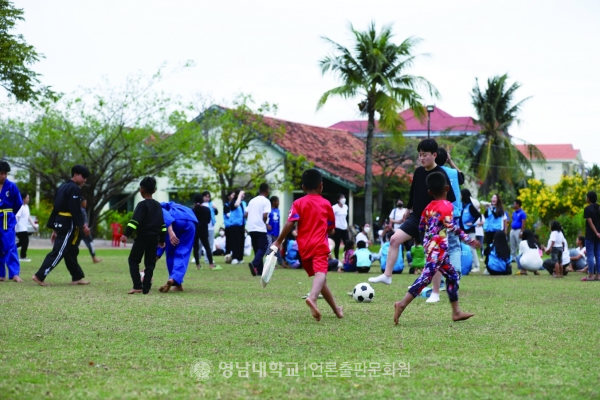
<instances>
[{"instance_id":1,"label":"pale overcast sky above the trees and rooftops","mask_svg":"<svg viewBox=\"0 0 600 400\"><path fill-rule=\"evenodd\" d=\"M511 133L534 144L572 143L600 164L600 1L430 0L16 0L18 31L46 58L33 68L55 90L121 84L163 63L196 66L166 84L184 98L251 94L279 106L277 117L330 126L360 119L354 100L322 110L323 92L339 82L322 76L330 52L322 36L351 46L348 24L393 24L398 42L423 41L412 74L440 91L438 107L474 116L475 78L508 73L532 96ZM512 82L511 81L511 82Z\"/></svg>"}]
</instances>

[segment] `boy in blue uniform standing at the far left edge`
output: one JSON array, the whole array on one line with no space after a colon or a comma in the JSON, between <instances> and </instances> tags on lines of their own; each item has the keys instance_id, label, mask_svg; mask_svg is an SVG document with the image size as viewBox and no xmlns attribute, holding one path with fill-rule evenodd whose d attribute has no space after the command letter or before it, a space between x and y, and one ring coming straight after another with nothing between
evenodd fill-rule
<instances>
[{"instance_id":1,"label":"boy in blue uniform standing at the far left edge","mask_svg":"<svg viewBox=\"0 0 600 400\"><path fill-rule=\"evenodd\" d=\"M8 180L9 172L10 165L6 161L0 161L0 281L6 280L6 265L8 279L23 282L19 277L21 264L15 243L15 215L21 209L23 199L17 185Z\"/></svg>"}]
</instances>

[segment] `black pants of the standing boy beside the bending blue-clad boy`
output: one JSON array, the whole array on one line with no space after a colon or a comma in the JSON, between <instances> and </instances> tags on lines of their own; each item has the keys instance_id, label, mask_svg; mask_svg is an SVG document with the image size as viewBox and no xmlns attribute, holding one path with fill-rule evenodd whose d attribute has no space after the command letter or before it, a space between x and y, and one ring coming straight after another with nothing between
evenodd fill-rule
<instances>
[{"instance_id":1,"label":"black pants of the standing boy beside the bending blue-clad boy","mask_svg":"<svg viewBox=\"0 0 600 400\"><path fill-rule=\"evenodd\" d=\"M156 266L156 247L158 246L158 236L141 236L135 239L129 253L129 273L133 281L135 290L143 290L148 293L152 287L152 276ZM144 258L144 282L140 277L140 263Z\"/></svg>"}]
</instances>

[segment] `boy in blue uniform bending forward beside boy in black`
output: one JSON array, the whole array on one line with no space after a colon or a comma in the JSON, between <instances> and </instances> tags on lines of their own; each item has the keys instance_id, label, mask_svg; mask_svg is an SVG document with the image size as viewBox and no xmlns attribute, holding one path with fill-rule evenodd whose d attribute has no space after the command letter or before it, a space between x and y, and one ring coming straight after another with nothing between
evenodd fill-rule
<instances>
[{"instance_id":1,"label":"boy in blue uniform bending forward beside boy in black","mask_svg":"<svg viewBox=\"0 0 600 400\"><path fill-rule=\"evenodd\" d=\"M157 256L167 254L167 270L169 280L160 287L159 291L167 293L171 286L177 291L183 291L183 277L187 272L190 256L196 238L196 224L198 219L191 208L182 206L172 201L160 203L163 219L167 227L169 240L165 249L158 248Z\"/></svg>"}]
</instances>

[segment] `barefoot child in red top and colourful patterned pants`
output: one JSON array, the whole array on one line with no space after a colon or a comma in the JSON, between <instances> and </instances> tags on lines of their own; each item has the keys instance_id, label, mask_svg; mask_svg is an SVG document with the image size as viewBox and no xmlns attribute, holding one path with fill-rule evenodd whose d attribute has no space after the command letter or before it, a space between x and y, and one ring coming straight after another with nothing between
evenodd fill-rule
<instances>
[{"instance_id":1,"label":"barefoot child in red top and colourful patterned pants","mask_svg":"<svg viewBox=\"0 0 600 400\"><path fill-rule=\"evenodd\" d=\"M402 301L398 301L394 305L395 325L398 325L398 319L404 309L421 293L421 290L429 285L438 271L446 278L446 290L452 305L452 319L463 321L474 315L462 312L458 305L458 274L450 264L447 233L453 232L459 235L463 241L471 246L479 247L479 242L469 237L457 225L454 225L452 221L452 203L446 200L446 193L450 189L446 177L438 172L430 174L427 177L427 187L434 200L423 210L419 223L419 230L425 231L423 247L427 262L421 276L408 289L408 293Z\"/></svg>"}]
</instances>

